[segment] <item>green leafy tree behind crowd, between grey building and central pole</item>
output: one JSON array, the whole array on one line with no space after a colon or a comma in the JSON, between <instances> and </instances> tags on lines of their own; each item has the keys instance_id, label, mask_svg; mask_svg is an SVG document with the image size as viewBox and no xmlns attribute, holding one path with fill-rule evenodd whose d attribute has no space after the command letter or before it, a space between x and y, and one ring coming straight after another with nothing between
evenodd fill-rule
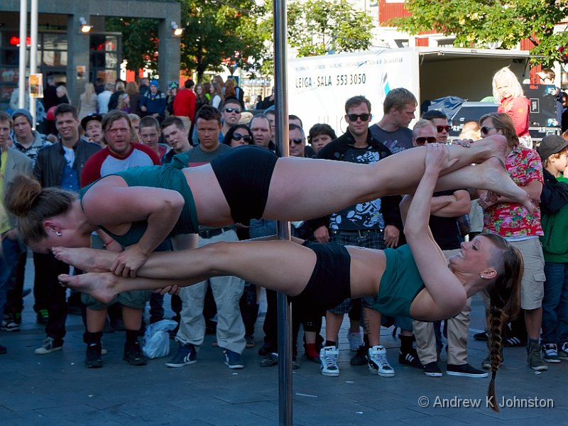
<instances>
[{"instance_id":1,"label":"green leafy tree behind crowd, between grey building and central pole","mask_svg":"<svg viewBox=\"0 0 568 426\"><path fill-rule=\"evenodd\" d=\"M180 65L195 70L199 82L205 72L222 65L231 74L236 67L259 67L267 49L258 25L263 13L263 5L254 0L182 0Z\"/></svg>"}]
</instances>

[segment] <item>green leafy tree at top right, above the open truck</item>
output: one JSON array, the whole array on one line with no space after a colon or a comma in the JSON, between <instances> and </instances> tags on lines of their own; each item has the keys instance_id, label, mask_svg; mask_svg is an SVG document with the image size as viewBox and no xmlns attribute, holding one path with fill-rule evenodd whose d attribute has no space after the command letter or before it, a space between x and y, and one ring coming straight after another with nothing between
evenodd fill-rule
<instances>
[{"instance_id":1,"label":"green leafy tree at top right, above the open truck","mask_svg":"<svg viewBox=\"0 0 568 426\"><path fill-rule=\"evenodd\" d=\"M456 47L497 43L510 49L528 38L531 53L545 57L532 62L543 65L564 60L558 49L568 47L568 33L554 33L555 23L568 15L566 0L408 0L405 8L412 15L394 19L393 25L411 34L455 35Z\"/></svg>"}]
</instances>

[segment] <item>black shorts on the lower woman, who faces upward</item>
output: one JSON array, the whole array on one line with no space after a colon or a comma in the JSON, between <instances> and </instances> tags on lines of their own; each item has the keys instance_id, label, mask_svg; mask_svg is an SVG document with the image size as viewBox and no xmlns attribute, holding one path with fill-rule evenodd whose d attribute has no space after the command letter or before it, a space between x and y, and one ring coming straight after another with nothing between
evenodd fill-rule
<instances>
[{"instance_id":1,"label":"black shorts on the lower woman, who faces upward","mask_svg":"<svg viewBox=\"0 0 568 426\"><path fill-rule=\"evenodd\" d=\"M294 303L320 310L336 307L351 297L351 256L341 244L303 244L315 252L317 260L306 288L292 297Z\"/></svg>"}]
</instances>

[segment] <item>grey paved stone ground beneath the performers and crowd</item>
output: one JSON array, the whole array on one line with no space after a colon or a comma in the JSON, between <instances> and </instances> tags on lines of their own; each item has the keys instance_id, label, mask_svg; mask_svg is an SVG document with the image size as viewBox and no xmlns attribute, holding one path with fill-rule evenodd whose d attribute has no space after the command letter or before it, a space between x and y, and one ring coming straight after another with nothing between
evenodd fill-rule
<instances>
[{"instance_id":1,"label":"grey paved stone ground beneath the performers and crowd","mask_svg":"<svg viewBox=\"0 0 568 426\"><path fill-rule=\"evenodd\" d=\"M32 280L33 271L28 271L26 287ZM163 358L149 361L148 366L129 366L122 361L124 333L119 332L104 334L109 351L103 357L104 368L88 369L83 364L83 326L77 316L67 320L62 351L33 354L45 335L43 327L35 324L31 297L25 300L21 332L0 334L0 342L9 349L0 356L0 425L278 424L278 368L258 366L261 322L257 324L257 347L245 349L243 354L243 370L226 368L221 349L212 346L214 336L210 335L196 364L167 368L164 363L168 358ZM475 299L470 333L482 327L483 307L481 299ZM322 376L319 365L302 357L301 368L293 371L294 425L567 424L568 403L562 390L566 388L568 363L549 364L548 371L535 374L525 364L525 349L505 349L505 364L497 378L498 400L551 398L554 408L548 403L547 408L503 408L501 413L493 413L485 405L488 378L427 377L420 370L398 364L400 342L392 337L392 329L383 328L381 334L395 368L394 378L371 375L366 366L349 365L345 327L340 332L339 377ZM177 346L170 342L175 353ZM470 338L471 364L479 366L485 356L484 342ZM442 370L445 367L445 354L440 366ZM434 406L442 400L462 406ZM465 400L481 407L464 407ZM428 406L421 407L426 401Z\"/></svg>"}]
</instances>

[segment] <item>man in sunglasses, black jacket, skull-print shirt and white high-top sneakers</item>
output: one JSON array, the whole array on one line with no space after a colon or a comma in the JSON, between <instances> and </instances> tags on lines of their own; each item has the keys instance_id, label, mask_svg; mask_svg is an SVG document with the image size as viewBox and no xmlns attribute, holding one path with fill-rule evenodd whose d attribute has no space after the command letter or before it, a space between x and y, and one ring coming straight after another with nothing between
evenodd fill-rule
<instances>
[{"instance_id":1,"label":"man in sunglasses, black jacket, skull-print shirt and white high-top sneakers","mask_svg":"<svg viewBox=\"0 0 568 426\"><path fill-rule=\"evenodd\" d=\"M345 103L347 131L343 136L331 141L320 150L317 158L349 161L351 163L376 163L391 155L383 143L371 136L368 125L371 122L371 102L362 96L351 97ZM329 217L315 219L310 224L315 229L318 242L329 241L344 245L361 246L370 249L384 249L398 245L402 221L398 202L400 198L383 197L347 207ZM393 377L393 368L386 359L386 349L380 345L381 313L371 308L364 300L364 317L368 324L366 342L361 341L359 331L361 319L361 300L346 299L339 306L326 313L326 342L320 351L321 372L324 376L339 376L337 367L337 334L343 317L349 313L349 345L357 355L352 365L365 365L375 374Z\"/></svg>"}]
</instances>

